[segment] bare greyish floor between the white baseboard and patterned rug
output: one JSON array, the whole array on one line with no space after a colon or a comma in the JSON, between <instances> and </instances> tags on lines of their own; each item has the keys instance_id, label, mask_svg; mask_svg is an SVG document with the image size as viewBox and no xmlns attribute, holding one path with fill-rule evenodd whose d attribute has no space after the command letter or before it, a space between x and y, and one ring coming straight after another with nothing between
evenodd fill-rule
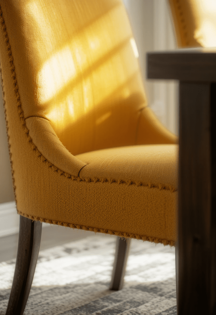
<instances>
[{"instance_id":1,"label":"bare greyish floor between the white baseboard and patterned rug","mask_svg":"<svg viewBox=\"0 0 216 315\"><path fill-rule=\"evenodd\" d=\"M95 235L95 233L64 226L48 225L42 228L40 250L63 245L90 235ZM0 262L16 258L18 238L18 233L0 238Z\"/></svg>"}]
</instances>

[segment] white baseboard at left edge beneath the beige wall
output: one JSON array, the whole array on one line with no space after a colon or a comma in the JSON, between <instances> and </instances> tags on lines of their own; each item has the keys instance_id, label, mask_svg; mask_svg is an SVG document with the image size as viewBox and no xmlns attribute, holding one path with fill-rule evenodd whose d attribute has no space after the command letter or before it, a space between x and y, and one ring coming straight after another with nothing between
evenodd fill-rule
<instances>
[{"instance_id":1,"label":"white baseboard at left edge beneath the beige wall","mask_svg":"<svg viewBox=\"0 0 216 315\"><path fill-rule=\"evenodd\" d=\"M42 227L49 226L43 223ZM0 204L0 237L19 233L20 216L16 211L16 203L6 202Z\"/></svg>"}]
</instances>

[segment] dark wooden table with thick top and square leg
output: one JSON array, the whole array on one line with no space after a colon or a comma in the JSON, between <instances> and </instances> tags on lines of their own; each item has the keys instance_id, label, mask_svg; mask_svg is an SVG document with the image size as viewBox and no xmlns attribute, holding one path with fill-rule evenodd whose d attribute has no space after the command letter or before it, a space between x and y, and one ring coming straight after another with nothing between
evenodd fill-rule
<instances>
[{"instance_id":1,"label":"dark wooden table with thick top and square leg","mask_svg":"<svg viewBox=\"0 0 216 315\"><path fill-rule=\"evenodd\" d=\"M216 314L216 49L147 53L147 79L179 81L178 315Z\"/></svg>"}]
</instances>

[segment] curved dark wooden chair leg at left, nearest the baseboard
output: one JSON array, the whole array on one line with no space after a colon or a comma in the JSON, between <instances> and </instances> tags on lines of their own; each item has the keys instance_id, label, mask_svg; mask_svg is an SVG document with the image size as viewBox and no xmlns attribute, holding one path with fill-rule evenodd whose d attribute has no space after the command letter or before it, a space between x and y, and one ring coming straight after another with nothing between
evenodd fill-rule
<instances>
[{"instance_id":1,"label":"curved dark wooden chair leg at left, nearest the baseboard","mask_svg":"<svg viewBox=\"0 0 216 315\"><path fill-rule=\"evenodd\" d=\"M20 216L20 233L14 280L6 315L22 315L38 260L42 222Z\"/></svg>"}]
</instances>

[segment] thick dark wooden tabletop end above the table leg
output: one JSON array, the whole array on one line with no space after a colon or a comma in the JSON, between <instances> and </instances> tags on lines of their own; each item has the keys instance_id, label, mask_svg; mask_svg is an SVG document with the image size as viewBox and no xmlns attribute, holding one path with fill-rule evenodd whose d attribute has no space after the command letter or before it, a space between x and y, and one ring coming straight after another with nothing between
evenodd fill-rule
<instances>
[{"instance_id":1,"label":"thick dark wooden tabletop end above the table leg","mask_svg":"<svg viewBox=\"0 0 216 315\"><path fill-rule=\"evenodd\" d=\"M146 77L216 82L216 50L179 49L147 53Z\"/></svg>"}]
</instances>

